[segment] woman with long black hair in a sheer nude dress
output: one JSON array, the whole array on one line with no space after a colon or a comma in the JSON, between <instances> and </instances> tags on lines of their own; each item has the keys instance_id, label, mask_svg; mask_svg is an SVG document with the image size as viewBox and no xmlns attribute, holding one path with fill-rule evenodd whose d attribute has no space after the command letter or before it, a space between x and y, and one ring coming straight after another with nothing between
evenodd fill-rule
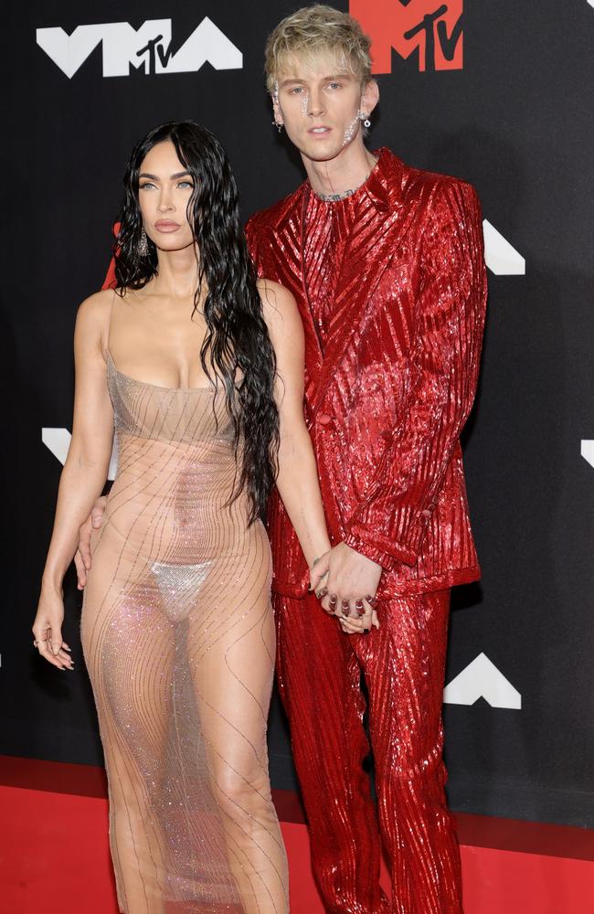
<instances>
[{"instance_id":1,"label":"woman with long black hair in a sheer nude dress","mask_svg":"<svg viewBox=\"0 0 594 914\"><path fill-rule=\"evenodd\" d=\"M72 441L33 626L69 669L62 579L118 472L82 613L126 914L288 910L270 800L276 482L311 566L329 547L302 413L302 323L257 281L217 140L170 122L133 150L115 291L80 306Z\"/></svg>"}]
</instances>

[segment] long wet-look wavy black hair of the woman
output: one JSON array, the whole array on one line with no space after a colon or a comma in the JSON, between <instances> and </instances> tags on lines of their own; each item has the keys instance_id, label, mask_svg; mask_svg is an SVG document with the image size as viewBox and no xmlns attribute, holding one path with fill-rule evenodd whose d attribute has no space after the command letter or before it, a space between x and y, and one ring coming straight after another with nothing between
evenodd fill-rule
<instances>
[{"instance_id":1,"label":"long wet-look wavy black hair of the woman","mask_svg":"<svg viewBox=\"0 0 594 914\"><path fill-rule=\"evenodd\" d=\"M179 161L194 179L187 218L198 248L194 311L201 307L207 324L200 361L207 377L225 390L238 460L232 500L246 490L251 524L263 514L276 476L276 360L239 218L238 188L228 155L200 124L163 123L133 149L123 179L121 225L113 245L118 291L123 295L126 289L142 289L158 271L157 250L151 239L147 238L148 251L141 253L138 175L145 155L164 141L174 144Z\"/></svg>"}]
</instances>

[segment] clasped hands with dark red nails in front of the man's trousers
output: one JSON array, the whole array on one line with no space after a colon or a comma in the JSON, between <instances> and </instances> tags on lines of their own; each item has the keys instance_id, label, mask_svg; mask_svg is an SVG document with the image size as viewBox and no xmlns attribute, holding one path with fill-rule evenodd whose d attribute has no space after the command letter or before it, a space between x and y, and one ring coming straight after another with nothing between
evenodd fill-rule
<instances>
[{"instance_id":1,"label":"clasped hands with dark red nails in front of the man's trousers","mask_svg":"<svg viewBox=\"0 0 594 914\"><path fill-rule=\"evenodd\" d=\"M343 631L366 632L372 625L379 628L375 603L381 573L382 567L377 562L339 543L316 561L311 574L312 587L320 596L324 610L338 616Z\"/></svg>"}]
</instances>

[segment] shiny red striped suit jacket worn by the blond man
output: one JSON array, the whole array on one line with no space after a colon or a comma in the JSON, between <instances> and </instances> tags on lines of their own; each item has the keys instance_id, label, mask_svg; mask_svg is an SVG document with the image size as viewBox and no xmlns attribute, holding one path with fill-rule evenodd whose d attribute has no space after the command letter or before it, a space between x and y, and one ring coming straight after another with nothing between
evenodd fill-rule
<instances>
[{"instance_id":1,"label":"shiny red striped suit jacket worn by the blond man","mask_svg":"<svg viewBox=\"0 0 594 914\"><path fill-rule=\"evenodd\" d=\"M258 273L297 300L305 329L305 418L331 540L385 569L381 598L480 577L459 436L472 407L486 277L472 186L404 165L387 149L337 265L324 355L302 271L308 182L250 218ZM269 515L273 590L308 573L278 494Z\"/></svg>"}]
</instances>

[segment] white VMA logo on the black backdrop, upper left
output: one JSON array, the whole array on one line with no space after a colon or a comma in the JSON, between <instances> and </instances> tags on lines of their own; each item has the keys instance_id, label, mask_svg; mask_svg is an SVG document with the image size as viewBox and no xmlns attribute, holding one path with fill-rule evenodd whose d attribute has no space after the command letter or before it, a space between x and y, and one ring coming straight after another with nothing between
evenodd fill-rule
<instances>
[{"instance_id":1,"label":"white VMA logo on the black backdrop, upper left","mask_svg":"<svg viewBox=\"0 0 594 914\"><path fill-rule=\"evenodd\" d=\"M127 22L77 26L71 35L61 27L37 28L37 44L72 79L101 44L103 76L129 76L130 65L146 75L192 73L205 63L215 69L241 69L243 55L208 16L181 48L171 47L171 19L147 19L135 29Z\"/></svg>"}]
</instances>

